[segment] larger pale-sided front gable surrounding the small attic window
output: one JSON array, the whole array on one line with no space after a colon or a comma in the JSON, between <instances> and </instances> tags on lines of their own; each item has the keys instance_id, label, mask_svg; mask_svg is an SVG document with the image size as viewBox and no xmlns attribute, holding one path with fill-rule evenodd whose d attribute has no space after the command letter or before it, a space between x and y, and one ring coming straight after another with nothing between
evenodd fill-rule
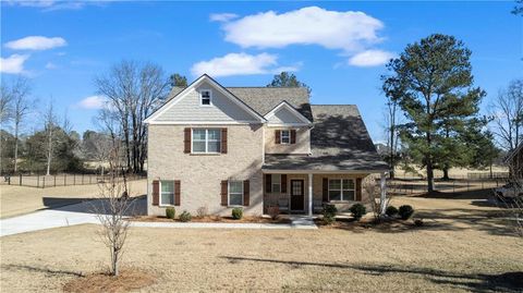
<instances>
[{"instance_id":1,"label":"larger pale-sided front gable surrounding the small attic window","mask_svg":"<svg viewBox=\"0 0 523 293\"><path fill-rule=\"evenodd\" d=\"M211 90L211 105L202 106L199 93ZM204 74L145 120L146 123L264 123L266 120Z\"/></svg>"}]
</instances>

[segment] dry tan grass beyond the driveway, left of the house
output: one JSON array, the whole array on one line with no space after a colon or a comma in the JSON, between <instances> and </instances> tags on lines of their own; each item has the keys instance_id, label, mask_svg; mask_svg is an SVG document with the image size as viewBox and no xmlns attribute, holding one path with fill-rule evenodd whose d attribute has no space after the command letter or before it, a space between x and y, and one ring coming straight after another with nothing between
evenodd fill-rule
<instances>
[{"instance_id":1,"label":"dry tan grass beyond the driveway, left of the house","mask_svg":"<svg viewBox=\"0 0 523 293\"><path fill-rule=\"evenodd\" d=\"M146 180L131 181L133 195L146 193ZM99 193L97 184L71 185L36 188L27 186L0 186L0 218L14 217L42 208L60 207L96 197Z\"/></svg>"}]
</instances>

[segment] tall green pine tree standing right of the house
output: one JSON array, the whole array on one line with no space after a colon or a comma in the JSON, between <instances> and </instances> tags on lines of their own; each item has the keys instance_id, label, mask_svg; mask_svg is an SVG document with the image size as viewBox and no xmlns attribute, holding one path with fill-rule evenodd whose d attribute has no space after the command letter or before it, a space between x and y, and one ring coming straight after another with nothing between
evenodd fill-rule
<instances>
[{"instance_id":1,"label":"tall green pine tree standing right of the house","mask_svg":"<svg viewBox=\"0 0 523 293\"><path fill-rule=\"evenodd\" d=\"M460 158L449 149L460 145L452 133L459 120L473 117L485 96L473 88L471 51L452 36L434 34L408 45L387 69L384 81L397 85L400 107L409 120L402 127L402 142L411 157L427 171L427 191L434 191L434 170L449 158ZM448 134L448 135L447 135ZM462 158L460 158L462 159Z\"/></svg>"}]
</instances>

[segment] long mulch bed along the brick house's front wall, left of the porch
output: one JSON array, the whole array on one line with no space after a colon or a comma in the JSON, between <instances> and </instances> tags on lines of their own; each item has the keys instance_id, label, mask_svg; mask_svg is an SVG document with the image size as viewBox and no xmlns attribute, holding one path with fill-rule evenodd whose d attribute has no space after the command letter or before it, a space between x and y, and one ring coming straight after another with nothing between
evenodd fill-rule
<instances>
[{"instance_id":1,"label":"long mulch bed along the brick house's front wall, left of the porch","mask_svg":"<svg viewBox=\"0 0 523 293\"><path fill-rule=\"evenodd\" d=\"M144 216L131 219L131 221L137 222L182 222L179 219L168 219L162 216ZM193 217L191 222L198 223L291 223L291 220L287 218L277 218L275 220L264 217L243 217L240 220L232 219L232 217L219 217L219 216L206 216L206 217Z\"/></svg>"}]
</instances>

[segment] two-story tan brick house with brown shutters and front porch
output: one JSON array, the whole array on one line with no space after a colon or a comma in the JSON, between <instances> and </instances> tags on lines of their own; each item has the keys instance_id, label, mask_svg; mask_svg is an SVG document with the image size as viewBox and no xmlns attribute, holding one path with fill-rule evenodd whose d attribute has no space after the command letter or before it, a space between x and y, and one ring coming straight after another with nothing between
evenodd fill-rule
<instances>
[{"instance_id":1,"label":"two-story tan brick house with brown shutters and front porch","mask_svg":"<svg viewBox=\"0 0 523 293\"><path fill-rule=\"evenodd\" d=\"M362 202L365 176L388 169L356 106L311 105L305 88L223 87L203 75L146 123L148 215L343 209Z\"/></svg>"}]
</instances>

